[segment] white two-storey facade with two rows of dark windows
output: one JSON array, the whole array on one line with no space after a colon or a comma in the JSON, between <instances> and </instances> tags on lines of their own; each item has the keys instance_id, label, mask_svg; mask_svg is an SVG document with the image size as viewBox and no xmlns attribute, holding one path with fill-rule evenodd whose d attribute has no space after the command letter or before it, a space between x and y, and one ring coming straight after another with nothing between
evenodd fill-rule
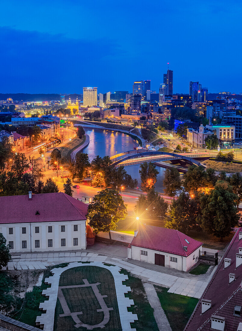
<instances>
[{"instance_id":1,"label":"white two-storey facade with two rows of dark windows","mask_svg":"<svg viewBox=\"0 0 242 331\"><path fill-rule=\"evenodd\" d=\"M10 253L86 249L85 220L0 224L0 233Z\"/></svg>"}]
</instances>

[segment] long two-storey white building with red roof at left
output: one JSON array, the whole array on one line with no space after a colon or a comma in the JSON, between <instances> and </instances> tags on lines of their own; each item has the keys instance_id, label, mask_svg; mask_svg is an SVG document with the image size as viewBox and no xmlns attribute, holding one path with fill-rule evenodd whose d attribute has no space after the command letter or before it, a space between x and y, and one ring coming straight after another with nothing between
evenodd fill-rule
<instances>
[{"instance_id":1,"label":"long two-storey white building with red roof at left","mask_svg":"<svg viewBox=\"0 0 242 331\"><path fill-rule=\"evenodd\" d=\"M11 253L86 249L86 214L63 192L0 197L0 232Z\"/></svg>"}]
</instances>

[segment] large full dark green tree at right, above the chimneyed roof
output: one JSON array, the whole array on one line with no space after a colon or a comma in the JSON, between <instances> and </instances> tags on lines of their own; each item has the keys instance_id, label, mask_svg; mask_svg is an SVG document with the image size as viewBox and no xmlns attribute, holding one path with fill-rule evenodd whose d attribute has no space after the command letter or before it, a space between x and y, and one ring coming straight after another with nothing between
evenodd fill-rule
<instances>
[{"instance_id":1,"label":"large full dark green tree at right, above the chimneyed roof","mask_svg":"<svg viewBox=\"0 0 242 331\"><path fill-rule=\"evenodd\" d=\"M198 217L200 226L208 233L222 241L228 236L240 219L236 209L237 195L232 186L224 181L218 181L210 194L200 198L202 214Z\"/></svg>"}]
</instances>

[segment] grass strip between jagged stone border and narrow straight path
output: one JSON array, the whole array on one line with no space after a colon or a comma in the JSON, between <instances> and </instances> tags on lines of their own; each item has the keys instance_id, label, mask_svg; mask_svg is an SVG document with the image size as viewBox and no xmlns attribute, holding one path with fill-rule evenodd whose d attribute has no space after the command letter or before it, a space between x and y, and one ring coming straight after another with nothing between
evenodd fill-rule
<instances>
[{"instance_id":1,"label":"grass strip between jagged stone border and narrow straight path","mask_svg":"<svg viewBox=\"0 0 242 331\"><path fill-rule=\"evenodd\" d=\"M125 294L125 297L134 301L134 306L127 309L138 316L137 321L130 323L131 328L135 328L136 331L159 331L154 317L154 309L149 304L142 281L132 276L127 270L122 269L121 273L128 275L128 279L123 284L131 288L131 292Z\"/></svg>"}]
</instances>

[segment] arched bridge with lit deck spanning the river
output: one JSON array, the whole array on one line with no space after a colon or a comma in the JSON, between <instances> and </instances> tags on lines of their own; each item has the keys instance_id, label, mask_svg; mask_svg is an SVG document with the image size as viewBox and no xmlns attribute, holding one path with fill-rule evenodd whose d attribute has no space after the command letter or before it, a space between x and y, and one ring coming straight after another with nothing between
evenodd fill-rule
<instances>
[{"instance_id":1,"label":"arched bridge with lit deck spanning the river","mask_svg":"<svg viewBox=\"0 0 242 331\"><path fill-rule=\"evenodd\" d=\"M195 164L197 166L203 166L201 162L195 160L194 158L206 157L208 153L205 154L189 154L189 153L167 153L159 152L147 149L138 149L133 151L127 151L112 156L110 159L113 161L115 166L135 166L140 165L143 162L161 162L161 161L173 161L173 160L184 160L188 164Z\"/></svg>"}]
</instances>

